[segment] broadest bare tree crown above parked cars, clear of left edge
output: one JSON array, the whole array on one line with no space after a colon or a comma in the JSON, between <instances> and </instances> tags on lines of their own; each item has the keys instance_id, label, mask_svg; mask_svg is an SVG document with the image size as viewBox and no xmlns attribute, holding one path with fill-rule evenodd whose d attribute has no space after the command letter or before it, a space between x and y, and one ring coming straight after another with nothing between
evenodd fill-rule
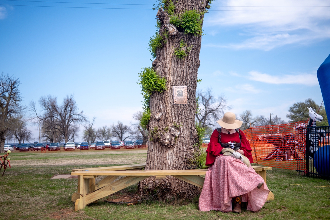
<instances>
[{"instance_id":1,"label":"broadest bare tree crown above parked cars, clear of left edge","mask_svg":"<svg viewBox=\"0 0 330 220\"><path fill-rule=\"evenodd\" d=\"M63 136L65 142L74 138L79 130L79 124L85 121L83 112L78 111L78 106L73 96L67 96L63 99L62 104L58 104L57 98L50 95L43 96L39 100L41 112L38 113L36 103L30 102L29 110L31 111L30 120L34 124L43 122L47 124L46 128L57 130Z\"/></svg>"}]
</instances>

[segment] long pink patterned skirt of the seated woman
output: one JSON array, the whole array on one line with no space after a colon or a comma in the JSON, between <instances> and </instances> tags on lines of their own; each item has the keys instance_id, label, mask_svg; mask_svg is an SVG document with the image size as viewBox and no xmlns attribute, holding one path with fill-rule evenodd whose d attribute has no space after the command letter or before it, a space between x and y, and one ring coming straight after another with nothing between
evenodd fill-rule
<instances>
[{"instance_id":1,"label":"long pink patterned skirt of the seated woman","mask_svg":"<svg viewBox=\"0 0 330 220\"><path fill-rule=\"evenodd\" d=\"M242 161L230 156L218 156L208 169L204 186L199 197L199 210L232 211L232 198L242 197L242 202L248 202L247 209L258 211L268 197L266 184L260 189L257 185L264 182L253 168L247 167Z\"/></svg>"}]
</instances>

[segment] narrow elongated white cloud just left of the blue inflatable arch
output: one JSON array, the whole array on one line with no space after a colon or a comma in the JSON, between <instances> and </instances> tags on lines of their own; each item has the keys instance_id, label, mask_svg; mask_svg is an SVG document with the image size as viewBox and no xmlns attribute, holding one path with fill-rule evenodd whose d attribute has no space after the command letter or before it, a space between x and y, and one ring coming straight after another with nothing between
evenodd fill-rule
<instances>
[{"instance_id":1,"label":"narrow elongated white cloud just left of the blue inflatable arch","mask_svg":"<svg viewBox=\"0 0 330 220\"><path fill-rule=\"evenodd\" d=\"M296 75L282 75L282 76L271 76L265 73L259 73L257 71L250 71L250 80L265 82L270 84L303 84L303 85L317 85L318 80L316 74L296 74Z\"/></svg>"}]
</instances>

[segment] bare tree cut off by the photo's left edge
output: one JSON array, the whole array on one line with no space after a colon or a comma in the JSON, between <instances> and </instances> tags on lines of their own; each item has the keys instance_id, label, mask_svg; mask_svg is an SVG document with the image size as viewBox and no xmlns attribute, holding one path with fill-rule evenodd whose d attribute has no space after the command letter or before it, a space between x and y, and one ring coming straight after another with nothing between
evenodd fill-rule
<instances>
[{"instance_id":1,"label":"bare tree cut off by the photo's left edge","mask_svg":"<svg viewBox=\"0 0 330 220\"><path fill-rule=\"evenodd\" d=\"M5 152L6 134L12 128L21 110L20 81L9 75L0 75L0 153Z\"/></svg>"}]
</instances>

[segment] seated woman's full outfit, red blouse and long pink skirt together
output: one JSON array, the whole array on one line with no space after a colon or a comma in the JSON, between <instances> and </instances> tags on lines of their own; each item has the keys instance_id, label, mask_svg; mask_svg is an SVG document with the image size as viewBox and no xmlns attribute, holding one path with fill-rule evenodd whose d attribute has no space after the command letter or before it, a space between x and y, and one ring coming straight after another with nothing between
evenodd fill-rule
<instances>
[{"instance_id":1,"label":"seated woman's full outfit, red blouse and long pink skirt together","mask_svg":"<svg viewBox=\"0 0 330 220\"><path fill-rule=\"evenodd\" d=\"M264 180L255 173L251 165L247 167L241 160L221 154L222 147L218 141L218 134L217 130L213 132L207 148L206 165L211 167L205 174L202 193L199 197L199 210L232 211L232 199L241 195L243 195L242 202L248 202L248 210L260 210L269 193L266 183L258 189L257 185ZM241 134L241 149L250 163L253 163L250 144L242 131ZM221 133L221 142L228 143L229 141L240 142L238 133Z\"/></svg>"}]
</instances>

